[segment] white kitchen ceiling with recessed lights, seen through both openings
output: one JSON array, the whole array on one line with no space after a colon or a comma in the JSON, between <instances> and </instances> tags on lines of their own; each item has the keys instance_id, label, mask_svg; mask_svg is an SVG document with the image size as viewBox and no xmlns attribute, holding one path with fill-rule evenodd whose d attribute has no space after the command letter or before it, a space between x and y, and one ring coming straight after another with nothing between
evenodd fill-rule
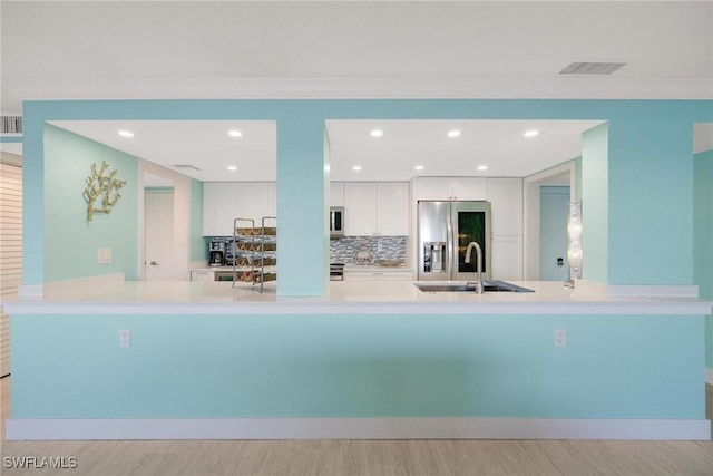
<instances>
[{"instance_id":1,"label":"white kitchen ceiling with recessed lights, seen through both openings","mask_svg":"<svg viewBox=\"0 0 713 476\"><path fill-rule=\"evenodd\" d=\"M51 124L202 182L274 181L273 122L170 120ZM595 120L328 120L334 181L407 181L416 175L527 176L580 155ZM370 132L379 128L381 137ZM459 137L447 136L459 130ZM537 137L524 137L526 130ZM123 137L130 130L134 137ZM231 137L240 130L241 137ZM193 168L176 167L192 165ZM361 171L352 169L354 165ZM414 166L422 165L422 171ZM487 171L477 166L487 165ZM231 172L228 166L237 167Z\"/></svg>"}]
</instances>

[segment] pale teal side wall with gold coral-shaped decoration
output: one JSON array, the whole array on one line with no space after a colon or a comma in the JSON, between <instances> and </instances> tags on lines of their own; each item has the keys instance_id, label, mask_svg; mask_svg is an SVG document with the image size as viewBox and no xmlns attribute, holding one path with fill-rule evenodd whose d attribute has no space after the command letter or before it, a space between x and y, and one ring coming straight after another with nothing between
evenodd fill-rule
<instances>
[{"instance_id":1,"label":"pale teal side wall with gold coral-shaped decoration","mask_svg":"<svg viewBox=\"0 0 713 476\"><path fill-rule=\"evenodd\" d=\"M89 222L82 193L91 165L100 168L102 161L127 184L111 212L95 213ZM127 280L138 279L137 158L47 125L45 163L45 281L115 272L125 273ZM32 211L26 207L25 213ZM111 249L111 263L97 263L100 247ZM26 247L26 254L32 252Z\"/></svg>"}]
</instances>

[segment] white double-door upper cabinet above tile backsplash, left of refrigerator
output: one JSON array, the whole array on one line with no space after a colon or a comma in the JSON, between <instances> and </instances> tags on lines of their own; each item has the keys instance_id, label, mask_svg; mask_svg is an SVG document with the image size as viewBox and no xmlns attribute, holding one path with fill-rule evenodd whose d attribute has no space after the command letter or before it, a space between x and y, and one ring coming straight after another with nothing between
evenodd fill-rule
<instances>
[{"instance_id":1,"label":"white double-door upper cabinet above tile backsplash, left of refrigerator","mask_svg":"<svg viewBox=\"0 0 713 476\"><path fill-rule=\"evenodd\" d=\"M344 234L350 236L409 234L409 184L344 183Z\"/></svg>"}]
</instances>

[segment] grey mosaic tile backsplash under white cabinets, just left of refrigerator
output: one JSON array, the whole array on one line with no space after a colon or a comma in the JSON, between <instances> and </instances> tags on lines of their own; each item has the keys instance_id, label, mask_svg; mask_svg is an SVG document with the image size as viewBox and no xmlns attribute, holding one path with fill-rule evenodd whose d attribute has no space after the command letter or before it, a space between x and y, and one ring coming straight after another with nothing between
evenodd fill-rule
<instances>
[{"instance_id":1,"label":"grey mosaic tile backsplash under white cabinets, just left of refrigerator","mask_svg":"<svg viewBox=\"0 0 713 476\"><path fill-rule=\"evenodd\" d=\"M375 260L406 261L408 236L344 236L330 240L330 262L370 264ZM369 262L356 260L356 252L368 251Z\"/></svg>"}]
</instances>

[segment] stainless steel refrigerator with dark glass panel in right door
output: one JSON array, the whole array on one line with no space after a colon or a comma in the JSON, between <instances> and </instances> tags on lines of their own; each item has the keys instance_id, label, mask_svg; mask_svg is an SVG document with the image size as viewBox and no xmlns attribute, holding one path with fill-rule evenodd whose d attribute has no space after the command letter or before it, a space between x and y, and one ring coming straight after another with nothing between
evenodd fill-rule
<instances>
[{"instance_id":1,"label":"stainless steel refrigerator with dark glass panel in right door","mask_svg":"<svg viewBox=\"0 0 713 476\"><path fill-rule=\"evenodd\" d=\"M472 241L482 249L482 279L490 279L490 202L419 201L419 281L477 280L476 253L466 263Z\"/></svg>"}]
</instances>

